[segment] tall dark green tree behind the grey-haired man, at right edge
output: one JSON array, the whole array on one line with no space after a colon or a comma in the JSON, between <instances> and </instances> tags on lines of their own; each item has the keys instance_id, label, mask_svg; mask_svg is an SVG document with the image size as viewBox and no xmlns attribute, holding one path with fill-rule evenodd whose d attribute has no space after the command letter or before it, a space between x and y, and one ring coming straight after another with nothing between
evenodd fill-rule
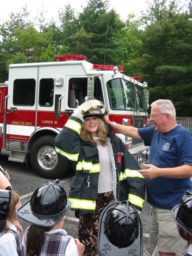
<instances>
[{"instance_id":1,"label":"tall dark green tree behind the grey-haired man, at right edge","mask_svg":"<svg viewBox=\"0 0 192 256\"><path fill-rule=\"evenodd\" d=\"M177 115L189 115L191 95L191 14L178 11L176 2L154 0L148 15L143 16L144 30L138 31L142 42L133 69L148 81L150 102L168 98ZM139 65L140 64L140 65Z\"/></svg>"}]
</instances>

